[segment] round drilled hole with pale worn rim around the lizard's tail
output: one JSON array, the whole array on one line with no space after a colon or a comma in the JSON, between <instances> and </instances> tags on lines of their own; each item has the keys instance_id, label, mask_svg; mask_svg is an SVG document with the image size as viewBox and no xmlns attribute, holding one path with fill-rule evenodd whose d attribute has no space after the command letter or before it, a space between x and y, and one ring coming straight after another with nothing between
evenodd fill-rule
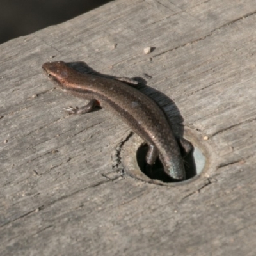
<instances>
[{"instance_id":1,"label":"round drilled hole with pale worn rim around the lizard's tail","mask_svg":"<svg viewBox=\"0 0 256 256\"><path fill-rule=\"evenodd\" d=\"M211 141L202 140L202 134L186 127L184 138L193 144L194 150L184 158L186 180L177 182L172 180L163 170L161 161L157 160L151 172L146 166L147 145L136 134L129 136L125 143L122 143L120 159L125 172L131 177L145 182L161 184L164 186L176 186L197 180L198 177L209 177L216 170L216 159ZM180 145L180 147L182 147ZM183 151L183 150L182 150ZM215 158L214 158L215 157ZM204 175L201 175L203 174Z\"/></svg>"}]
</instances>

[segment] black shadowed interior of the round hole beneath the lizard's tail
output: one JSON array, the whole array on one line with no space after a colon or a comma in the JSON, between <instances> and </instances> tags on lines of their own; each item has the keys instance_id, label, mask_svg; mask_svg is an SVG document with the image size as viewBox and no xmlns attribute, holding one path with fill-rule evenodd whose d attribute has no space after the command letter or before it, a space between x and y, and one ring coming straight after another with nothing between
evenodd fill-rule
<instances>
[{"instance_id":1,"label":"black shadowed interior of the round hole beneath the lizard's tail","mask_svg":"<svg viewBox=\"0 0 256 256\"><path fill-rule=\"evenodd\" d=\"M166 183L177 183L177 182L182 182L184 180L175 180L172 179L166 172L164 172L163 164L161 163L160 159L157 158L156 163L152 167L148 166L146 163L146 155L148 151L148 145L141 145L138 148L137 151L137 162L138 166L140 166L141 172L143 172L147 177L150 179L154 180L161 180L162 182ZM196 165L195 165L195 160L193 157L193 150L189 152L189 154L183 158L183 163L185 167L185 172L186 172L186 179L189 180L193 177L196 176Z\"/></svg>"}]
</instances>

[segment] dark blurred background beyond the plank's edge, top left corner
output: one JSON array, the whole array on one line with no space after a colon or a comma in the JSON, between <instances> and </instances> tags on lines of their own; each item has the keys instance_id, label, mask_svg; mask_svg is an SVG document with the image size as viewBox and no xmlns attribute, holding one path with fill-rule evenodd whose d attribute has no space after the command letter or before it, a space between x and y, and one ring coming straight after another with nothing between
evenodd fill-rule
<instances>
[{"instance_id":1,"label":"dark blurred background beyond the plank's edge, top left corner","mask_svg":"<svg viewBox=\"0 0 256 256\"><path fill-rule=\"evenodd\" d=\"M59 24L111 0L0 0L0 44Z\"/></svg>"}]
</instances>

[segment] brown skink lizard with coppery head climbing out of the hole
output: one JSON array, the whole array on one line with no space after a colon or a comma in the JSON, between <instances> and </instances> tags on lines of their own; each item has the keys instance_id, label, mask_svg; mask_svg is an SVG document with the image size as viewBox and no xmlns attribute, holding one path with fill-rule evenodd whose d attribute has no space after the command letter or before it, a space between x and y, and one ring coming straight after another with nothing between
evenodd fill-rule
<instances>
[{"instance_id":1,"label":"brown skink lizard with coppery head climbing out of the hole","mask_svg":"<svg viewBox=\"0 0 256 256\"><path fill-rule=\"evenodd\" d=\"M42 66L47 76L62 90L90 100L81 108L64 108L71 114L92 111L95 106L108 108L120 116L148 144L147 163L152 166L159 156L164 172L175 180L185 179L180 148L163 110L136 86L95 75L81 74L63 61ZM184 140L184 139L183 139Z\"/></svg>"}]
</instances>

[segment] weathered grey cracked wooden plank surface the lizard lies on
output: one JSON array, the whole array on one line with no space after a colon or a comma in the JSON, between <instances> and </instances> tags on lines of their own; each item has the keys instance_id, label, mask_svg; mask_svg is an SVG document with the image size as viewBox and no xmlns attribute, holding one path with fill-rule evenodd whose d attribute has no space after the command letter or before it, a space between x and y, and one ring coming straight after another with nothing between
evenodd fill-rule
<instances>
[{"instance_id":1,"label":"weathered grey cracked wooden plank surface the lizard lies on","mask_svg":"<svg viewBox=\"0 0 256 256\"><path fill-rule=\"evenodd\" d=\"M255 0L118 0L0 45L0 255L255 255L255 24ZM120 175L129 127L60 113L84 102L52 90L49 60L149 74L216 168L173 187Z\"/></svg>"}]
</instances>

